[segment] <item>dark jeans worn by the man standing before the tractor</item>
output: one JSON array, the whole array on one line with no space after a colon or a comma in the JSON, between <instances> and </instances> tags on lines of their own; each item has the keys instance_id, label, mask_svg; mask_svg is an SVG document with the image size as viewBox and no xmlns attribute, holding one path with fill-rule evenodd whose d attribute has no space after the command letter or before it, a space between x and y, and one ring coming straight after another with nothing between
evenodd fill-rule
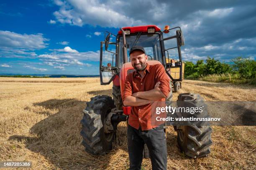
<instances>
[{"instance_id":1,"label":"dark jeans worn by the man standing before the tractor","mask_svg":"<svg viewBox=\"0 0 256 170\"><path fill-rule=\"evenodd\" d=\"M151 130L141 130L128 125L127 129L128 153L130 170L141 170L144 144L148 146L153 170L167 169L166 138L163 127Z\"/></svg>"}]
</instances>

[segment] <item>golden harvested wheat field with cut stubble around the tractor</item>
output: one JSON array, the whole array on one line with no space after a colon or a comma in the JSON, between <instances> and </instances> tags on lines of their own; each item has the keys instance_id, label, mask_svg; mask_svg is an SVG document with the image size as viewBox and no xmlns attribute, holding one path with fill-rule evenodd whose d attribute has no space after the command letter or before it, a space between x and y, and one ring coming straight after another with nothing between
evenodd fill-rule
<instances>
[{"instance_id":1,"label":"golden harvested wheat field with cut stubble around the tractor","mask_svg":"<svg viewBox=\"0 0 256 170\"><path fill-rule=\"evenodd\" d=\"M128 169L125 122L118 125L114 148L107 155L90 155L81 145L86 102L95 95L111 95L111 90L112 85L101 86L99 78L1 77L0 161L32 161L35 170ZM206 100L256 100L256 88L248 85L185 80L182 92L200 93ZM256 169L256 127L212 129L211 154L192 159L180 152L177 133L169 127L168 169ZM150 170L150 160L144 159L142 167Z\"/></svg>"}]
</instances>

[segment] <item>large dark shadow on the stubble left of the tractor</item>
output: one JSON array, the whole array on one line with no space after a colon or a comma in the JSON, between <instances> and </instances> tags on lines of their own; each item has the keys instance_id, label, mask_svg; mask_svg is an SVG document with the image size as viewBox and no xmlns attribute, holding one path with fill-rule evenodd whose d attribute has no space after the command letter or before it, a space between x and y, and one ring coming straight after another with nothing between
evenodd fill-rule
<instances>
[{"instance_id":1,"label":"large dark shadow on the stubble left of the tractor","mask_svg":"<svg viewBox=\"0 0 256 170\"><path fill-rule=\"evenodd\" d=\"M108 91L101 90L103 94ZM84 147L81 145L80 120L85 103L86 101L76 99L53 99L34 103L34 108L25 109L45 114L48 117L33 125L29 136L13 135L8 140L10 142L25 141L26 148L43 155L52 164L53 169L106 169L116 165L128 168L127 127L124 124L118 125L113 150L108 154L96 156L84 151ZM36 109L37 107L42 108L40 110ZM52 114L52 110L58 111ZM176 134L168 133L167 138L168 155L180 154L177 148ZM123 159L126 158L125 162L120 159L115 160L115 157L120 158L119 156ZM113 162L117 164L113 164ZM36 164L38 163L36 162ZM40 165L38 166L40 167Z\"/></svg>"}]
</instances>

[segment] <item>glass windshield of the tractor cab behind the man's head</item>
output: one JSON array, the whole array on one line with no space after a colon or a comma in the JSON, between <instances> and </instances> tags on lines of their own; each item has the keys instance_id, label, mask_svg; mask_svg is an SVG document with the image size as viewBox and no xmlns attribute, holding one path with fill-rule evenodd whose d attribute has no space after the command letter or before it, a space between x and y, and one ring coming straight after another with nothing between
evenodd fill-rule
<instances>
[{"instance_id":1,"label":"glass windshield of the tractor cab behind the man's head","mask_svg":"<svg viewBox=\"0 0 256 170\"><path fill-rule=\"evenodd\" d=\"M130 62L129 52L131 47L140 45L144 47L148 60L158 60L162 63L161 46L159 40L159 34L148 34L148 35L125 35L127 45L127 57ZM123 37L120 37L118 43L119 47L119 66L123 65Z\"/></svg>"}]
</instances>

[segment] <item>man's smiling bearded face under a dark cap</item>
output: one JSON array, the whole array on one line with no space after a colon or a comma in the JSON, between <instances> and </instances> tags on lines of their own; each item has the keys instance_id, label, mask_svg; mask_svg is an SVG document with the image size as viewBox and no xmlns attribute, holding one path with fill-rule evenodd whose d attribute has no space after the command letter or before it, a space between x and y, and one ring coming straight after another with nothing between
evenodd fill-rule
<instances>
[{"instance_id":1,"label":"man's smiling bearded face under a dark cap","mask_svg":"<svg viewBox=\"0 0 256 170\"><path fill-rule=\"evenodd\" d=\"M148 56L142 51L137 50L131 53L130 60L135 70L142 71L147 66Z\"/></svg>"}]
</instances>

